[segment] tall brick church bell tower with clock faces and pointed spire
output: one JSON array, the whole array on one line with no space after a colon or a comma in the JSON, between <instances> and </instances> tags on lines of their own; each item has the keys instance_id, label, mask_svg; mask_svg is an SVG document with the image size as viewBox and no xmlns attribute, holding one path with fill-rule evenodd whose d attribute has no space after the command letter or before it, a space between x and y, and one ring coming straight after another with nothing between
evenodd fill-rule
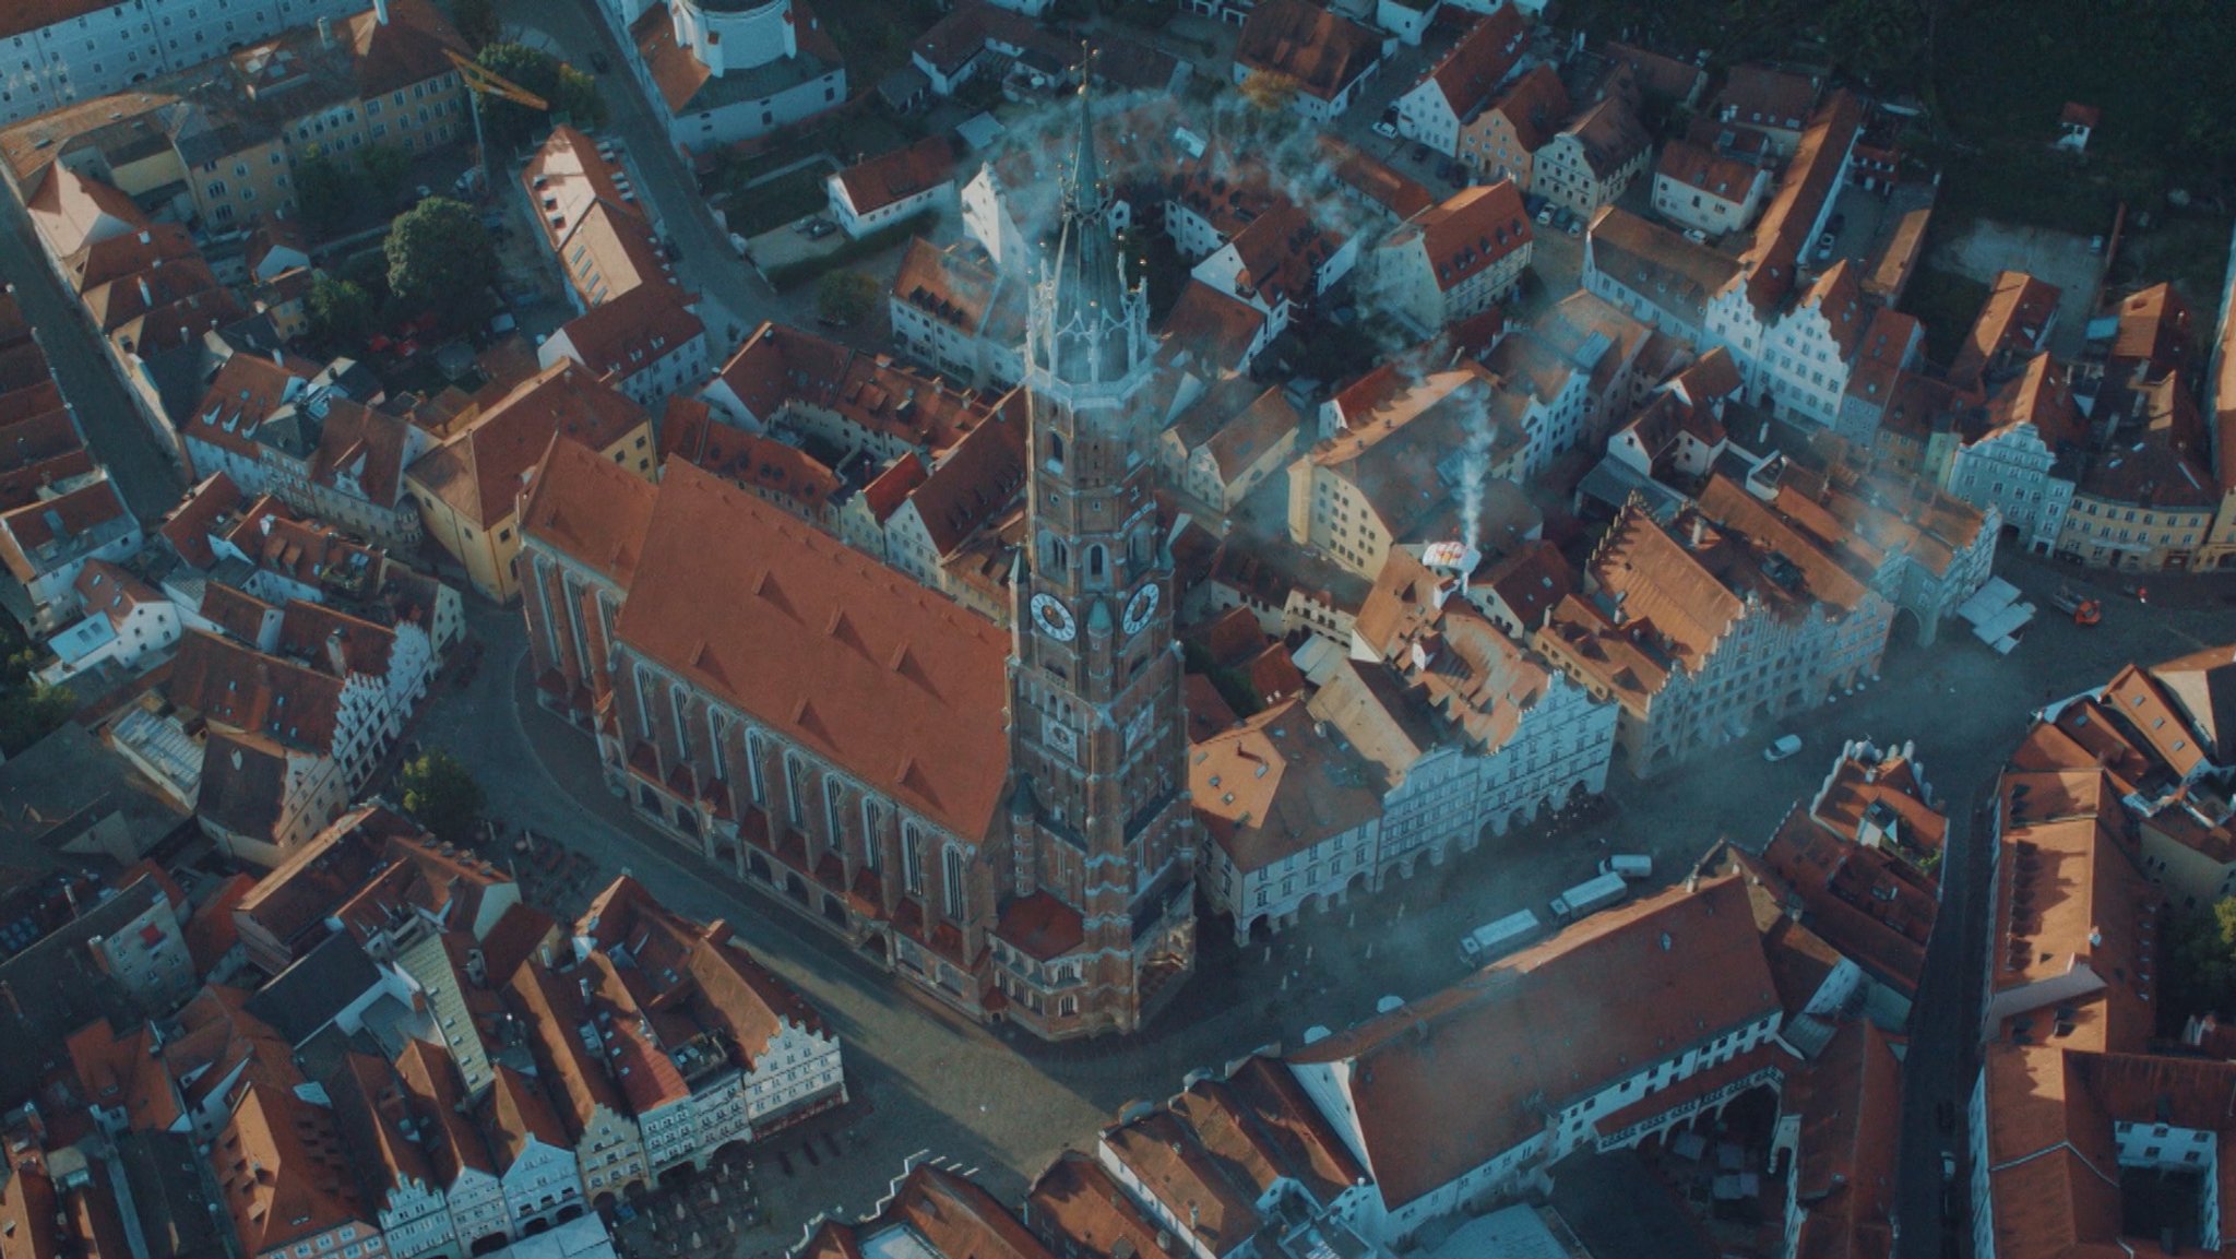
<instances>
[{"instance_id":1,"label":"tall brick church bell tower with clock faces and pointed spire","mask_svg":"<svg viewBox=\"0 0 2236 1259\"><path fill-rule=\"evenodd\" d=\"M1029 550L1011 657L1006 892L1053 897L1080 919L1058 962L1076 964L1076 986L1033 991L1049 1009L1015 1015L1044 1017L1049 1035L1136 1031L1194 968L1183 664L1152 494L1154 349L1082 87L1062 235L1026 329Z\"/></svg>"}]
</instances>

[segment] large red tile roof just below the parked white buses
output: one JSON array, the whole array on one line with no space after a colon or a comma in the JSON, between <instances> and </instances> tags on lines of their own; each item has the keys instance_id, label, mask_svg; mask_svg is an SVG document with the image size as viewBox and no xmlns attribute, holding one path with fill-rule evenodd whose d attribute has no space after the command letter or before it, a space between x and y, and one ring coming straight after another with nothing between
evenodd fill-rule
<instances>
[{"instance_id":1,"label":"large red tile roof just below the parked white buses","mask_svg":"<svg viewBox=\"0 0 2236 1259\"><path fill-rule=\"evenodd\" d=\"M1543 1134L1547 1111L1778 1011L1746 886L1722 877L1597 912L1288 1060L1348 1064L1366 1163L1398 1210Z\"/></svg>"}]
</instances>

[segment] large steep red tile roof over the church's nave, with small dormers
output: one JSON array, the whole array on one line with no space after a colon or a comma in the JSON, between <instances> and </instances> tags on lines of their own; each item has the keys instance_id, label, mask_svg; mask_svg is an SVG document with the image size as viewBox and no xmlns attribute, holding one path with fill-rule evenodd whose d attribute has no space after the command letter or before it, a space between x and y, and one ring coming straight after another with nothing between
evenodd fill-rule
<instances>
[{"instance_id":1,"label":"large steep red tile roof over the church's nave, with small dormers","mask_svg":"<svg viewBox=\"0 0 2236 1259\"><path fill-rule=\"evenodd\" d=\"M669 461L619 640L964 839L1008 778L1008 637Z\"/></svg>"}]
</instances>

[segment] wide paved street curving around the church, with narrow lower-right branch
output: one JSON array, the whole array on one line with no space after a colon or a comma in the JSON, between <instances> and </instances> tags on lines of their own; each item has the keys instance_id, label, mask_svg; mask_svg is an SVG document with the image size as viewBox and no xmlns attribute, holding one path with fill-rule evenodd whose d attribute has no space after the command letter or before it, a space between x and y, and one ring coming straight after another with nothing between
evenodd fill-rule
<instances>
[{"instance_id":1,"label":"wide paved street curving around the church, with narrow lower-right branch","mask_svg":"<svg viewBox=\"0 0 2236 1259\"><path fill-rule=\"evenodd\" d=\"M2030 590L2059 579L2026 566L2010 566L2008 575ZM2189 651L2214 633L2223 613L2209 604L2144 613L2129 602L2097 631L2037 626L2012 657L1995 657L1968 637L1948 637L1932 653L1901 644L1889 653L1885 682L1780 727L1804 736L1802 756L1764 763L1755 740L1778 733L1764 729L1650 783L1617 772L1608 805L1594 816L1494 841L1411 883L1306 919L1272 946L1237 950L1223 921L1205 921L1201 973L1154 1035L1055 1049L921 1004L789 908L711 872L693 852L637 823L606 794L590 740L532 704L517 613L472 610L474 633L490 644L487 669L467 691L438 693L420 738L465 756L505 823L552 836L608 874L631 868L682 912L736 924L756 953L832 1017L861 1098L834 1123L854 1127L856 1138L843 1158L814 1167L812 1178L805 1165L800 1176L762 1167L771 1223L756 1246L769 1246L812 1210L874 1203L899 1161L917 1149L977 1165L995 1192L1015 1196L1058 1149L1091 1143L1096 1127L1125 1102L1160 1098L1196 1067L1263 1044L1295 1044L1310 1024L1368 1017L1382 995L1420 997L1458 979L1453 941L1462 930L1514 908L1541 908L1610 850L1655 854L1666 879L1717 839L1760 850L1778 818L1816 789L1849 736L1914 738L1934 789L1961 807L1992 783L2046 689L2102 680L2124 660ZM1968 1011L1977 1009L1977 993L1945 982L1941 971L1977 973L1952 957L1952 950L1977 955L1983 850L1972 834L1959 825L1952 841L1959 852L1945 912L1957 930L1936 941L1934 975L1918 1002L1910 1107L1921 1118L1903 1156L1910 1167L1923 1165L1925 1176L1907 1176L1905 1194L1923 1194L1927 1205L1905 1199L1907 1219L1927 1208L1923 1219L1939 1214L1932 1201L1939 1152L1954 1138L1943 1138L1930 1116L1934 1102L1961 1100L1970 1080ZM1936 1241L1932 1223L1905 1234Z\"/></svg>"}]
</instances>

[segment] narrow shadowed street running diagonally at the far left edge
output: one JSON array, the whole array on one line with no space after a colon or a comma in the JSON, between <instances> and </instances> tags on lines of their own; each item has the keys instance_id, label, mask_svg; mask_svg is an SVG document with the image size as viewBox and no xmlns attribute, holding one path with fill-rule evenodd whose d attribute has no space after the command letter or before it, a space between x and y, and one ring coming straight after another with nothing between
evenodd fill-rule
<instances>
[{"instance_id":1,"label":"narrow shadowed street running diagonally at the far left edge","mask_svg":"<svg viewBox=\"0 0 2236 1259\"><path fill-rule=\"evenodd\" d=\"M16 286L16 302L31 320L94 458L107 465L132 514L141 521L159 519L179 501L183 485L170 447L157 443L132 405L101 333L47 266L31 217L11 195L0 195L0 275Z\"/></svg>"}]
</instances>

